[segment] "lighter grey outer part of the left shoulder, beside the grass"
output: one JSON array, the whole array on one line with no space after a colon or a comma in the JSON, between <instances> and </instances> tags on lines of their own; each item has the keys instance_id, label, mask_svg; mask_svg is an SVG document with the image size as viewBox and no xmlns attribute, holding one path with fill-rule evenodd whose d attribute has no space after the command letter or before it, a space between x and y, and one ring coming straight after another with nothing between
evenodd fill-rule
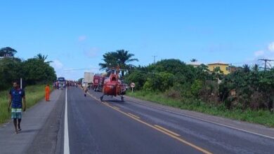
<instances>
[{"instance_id":1,"label":"lighter grey outer part of the left shoulder, beside the grass","mask_svg":"<svg viewBox=\"0 0 274 154\"><path fill-rule=\"evenodd\" d=\"M22 132L19 134L13 134L12 120L0 127L1 153L27 153L30 147L36 147L34 141L44 130L44 126L48 127L48 120L55 118L51 113L60 112L56 109L58 104L63 104L63 102L60 102L63 94L62 90L54 90L51 92L51 102L41 100L23 113ZM51 130L56 130L56 127L49 129L49 131Z\"/></svg>"}]
</instances>

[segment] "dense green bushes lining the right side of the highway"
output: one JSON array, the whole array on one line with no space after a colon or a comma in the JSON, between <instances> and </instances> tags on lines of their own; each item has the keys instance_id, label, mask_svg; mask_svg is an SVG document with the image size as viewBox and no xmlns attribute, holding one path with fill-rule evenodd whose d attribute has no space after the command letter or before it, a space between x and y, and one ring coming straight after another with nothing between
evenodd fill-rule
<instances>
[{"instance_id":1,"label":"dense green bushes lining the right side of the highway","mask_svg":"<svg viewBox=\"0 0 274 154\"><path fill-rule=\"evenodd\" d=\"M140 90L163 92L169 98L180 98L180 95L184 100L200 99L226 109L271 110L274 69L260 71L258 66L251 69L248 65L231 68L234 68L232 73L223 75L220 69L210 72L204 64L193 67L178 59L164 59L139 66L140 71L148 72L132 72L126 80L133 80Z\"/></svg>"}]
</instances>

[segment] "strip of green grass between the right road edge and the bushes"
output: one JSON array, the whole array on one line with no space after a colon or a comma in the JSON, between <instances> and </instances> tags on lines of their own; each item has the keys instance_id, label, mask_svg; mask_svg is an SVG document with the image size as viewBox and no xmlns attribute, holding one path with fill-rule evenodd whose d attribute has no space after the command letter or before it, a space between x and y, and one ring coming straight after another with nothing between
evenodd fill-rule
<instances>
[{"instance_id":1,"label":"strip of green grass between the right road edge and the bushes","mask_svg":"<svg viewBox=\"0 0 274 154\"><path fill-rule=\"evenodd\" d=\"M157 92L128 92L128 96L136 97L138 99L143 99L150 102L155 102L157 104L162 104L164 106L172 106L178 109L185 109L190 111L198 111L201 113L207 113L213 116L221 116L224 118L230 118L233 120L242 120L249 123L257 123L265 125L267 127L274 127L274 114L270 111L253 111L247 109L242 111L240 109L226 109L223 105L213 105L204 104L200 101L195 101L193 99L182 100L182 99L172 99L164 96L162 93Z\"/></svg>"}]
</instances>

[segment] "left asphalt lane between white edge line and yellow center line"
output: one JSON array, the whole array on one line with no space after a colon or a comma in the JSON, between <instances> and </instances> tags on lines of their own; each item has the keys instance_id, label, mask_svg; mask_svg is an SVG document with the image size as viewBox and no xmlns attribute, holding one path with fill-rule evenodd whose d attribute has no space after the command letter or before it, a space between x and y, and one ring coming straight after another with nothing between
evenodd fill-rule
<instances>
[{"instance_id":1,"label":"left asphalt lane between white edge line and yellow center line","mask_svg":"<svg viewBox=\"0 0 274 154\"><path fill-rule=\"evenodd\" d=\"M70 153L200 153L79 89L67 96Z\"/></svg>"}]
</instances>

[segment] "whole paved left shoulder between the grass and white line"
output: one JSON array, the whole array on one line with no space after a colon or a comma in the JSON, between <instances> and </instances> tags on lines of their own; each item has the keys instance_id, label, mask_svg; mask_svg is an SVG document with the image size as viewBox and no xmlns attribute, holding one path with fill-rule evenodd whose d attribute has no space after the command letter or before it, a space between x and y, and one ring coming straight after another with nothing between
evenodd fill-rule
<instances>
[{"instance_id":1,"label":"whole paved left shoulder between the grass and white line","mask_svg":"<svg viewBox=\"0 0 274 154\"><path fill-rule=\"evenodd\" d=\"M22 132L13 134L13 122L0 127L0 153L60 153L65 92L55 90L51 102L42 100L22 115Z\"/></svg>"}]
</instances>

